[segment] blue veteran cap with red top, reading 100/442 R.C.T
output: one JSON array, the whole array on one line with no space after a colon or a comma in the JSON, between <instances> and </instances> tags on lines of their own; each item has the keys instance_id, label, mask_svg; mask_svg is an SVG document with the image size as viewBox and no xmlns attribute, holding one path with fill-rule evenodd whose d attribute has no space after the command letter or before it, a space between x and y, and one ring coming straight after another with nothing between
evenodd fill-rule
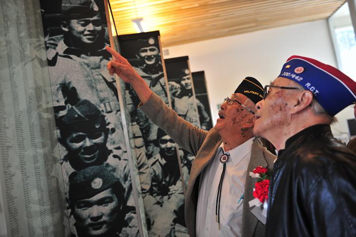
<instances>
[{"instance_id":1,"label":"blue veteran cap with red top, reading 100/442 R.C.T","mask_svg":"<svg viewBox=\"0 0 356 237\"><path fill-rule=\"evenodd\" d=\"M315 100L334 116L356 101L356 82L338 69L315 59L291 56L278 77L291 79L312 91Z\"/></svg>"}]
</instances>

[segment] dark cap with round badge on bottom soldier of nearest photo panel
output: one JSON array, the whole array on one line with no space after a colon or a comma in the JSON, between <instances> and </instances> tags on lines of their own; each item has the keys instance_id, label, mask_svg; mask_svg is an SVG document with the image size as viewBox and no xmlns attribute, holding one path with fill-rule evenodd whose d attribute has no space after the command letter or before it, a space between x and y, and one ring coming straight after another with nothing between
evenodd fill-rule
<instances>
[{"instance_id":1,"label":"dark cap with round badge on bottom soldier of nearest photo panel","mask_svg":"<svg viewBox=\"0 0 356 237\"><path fill-rule=\"evenodd\" d=\"M120 194L125 193L125 189L120 180L115 176L115 169L112 166L103 164L89 166L80 171L74 171L69 176L69 201L70 205L79 200L94 197L115 186Z\"/></svg>"}]
</instances>

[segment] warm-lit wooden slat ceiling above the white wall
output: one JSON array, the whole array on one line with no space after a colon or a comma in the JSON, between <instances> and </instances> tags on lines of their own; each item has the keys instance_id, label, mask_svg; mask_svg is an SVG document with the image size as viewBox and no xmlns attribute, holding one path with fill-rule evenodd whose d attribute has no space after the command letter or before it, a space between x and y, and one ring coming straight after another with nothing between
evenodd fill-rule
<instances>
[{"instance_id":1,"label":"warm-lit wooden slat ceiling above the white wall","mask_svg":"<svg viewBox=\"0 0 356 237\"><path fill-rule=\"evenodd\" d=\"M164 47L326 19L345 0L110 0L119 35L159 30Z\"/></svg>"}]
</instances>

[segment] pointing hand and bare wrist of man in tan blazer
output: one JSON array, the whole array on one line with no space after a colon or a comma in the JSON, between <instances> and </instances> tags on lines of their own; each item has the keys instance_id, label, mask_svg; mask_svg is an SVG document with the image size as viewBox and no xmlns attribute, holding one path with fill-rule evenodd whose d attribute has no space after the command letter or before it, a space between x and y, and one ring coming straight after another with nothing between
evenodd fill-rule
<instances>
[{"instance_id":1,"label":"pointing hand and bare wrist of man in tan blazer","mask_svg":"<svg viewBox=\"0 0 356 237\"><path fill-rule=\"evenodd\" d=\"M114 49L106 46L106 50L111 53L113 59L107 64L107 70L110 75L117 74L126 83L131 84L142 104L145 104L152 95L152 90L141 76L134 70L129 61L116 52Z\"/></svg>"}]
</instances>

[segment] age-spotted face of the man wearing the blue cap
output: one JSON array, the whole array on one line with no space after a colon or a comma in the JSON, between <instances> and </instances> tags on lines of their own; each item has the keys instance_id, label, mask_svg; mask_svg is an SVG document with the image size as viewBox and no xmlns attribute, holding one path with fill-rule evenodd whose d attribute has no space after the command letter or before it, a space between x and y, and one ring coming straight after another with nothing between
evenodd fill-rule
<instances>
[{"instance_id":1,"label":"age-spotted face of the man wearing the blue cap","mask_svg":"<svg viewBox=\"0 0 356 237\"><path fill-rule=\"evenodd\" d=\"M291 85L291 80L285 78L277 78L272 82L275 86L294 86ZM254 134L267 138L268 134L275 133L285 125L288 125L289 110L295 90L287 90L280 88L269 88L268 95L265 100L256 104L256 121L254 126ZM274 131L273 131L274 130ZM267 137L266 137L267 136ZM268 138L267 138L268 139Z\"/></svg>"}]
</instances>

